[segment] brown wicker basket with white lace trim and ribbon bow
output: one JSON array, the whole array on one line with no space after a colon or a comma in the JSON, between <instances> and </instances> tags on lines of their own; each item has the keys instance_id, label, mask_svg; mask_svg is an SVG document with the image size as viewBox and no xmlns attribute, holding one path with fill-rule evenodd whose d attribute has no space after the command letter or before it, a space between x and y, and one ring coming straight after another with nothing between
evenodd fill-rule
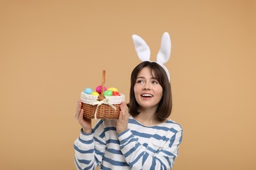
<instances>
[{"instance_id":1,"label":"brown wicker basket with white lace trim and ribbon bow","mask_svg":"<svg viewBox=\"0 0 256 170\"><path fill-rule=\"evenodd\" d=\"M104 96L105 71L102 72L102 89L100 95L90 95L81 92L83 116L90 119L118 119L120 104L125 101L125 95Z\"/></svg>"}]
</instances>

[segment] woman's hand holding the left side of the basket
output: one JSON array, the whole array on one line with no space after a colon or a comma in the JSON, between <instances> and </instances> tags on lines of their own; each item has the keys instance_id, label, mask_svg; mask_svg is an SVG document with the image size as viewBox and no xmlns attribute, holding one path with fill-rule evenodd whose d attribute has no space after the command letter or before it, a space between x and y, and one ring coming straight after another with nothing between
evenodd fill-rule
<instances>
[{"instance_id":1,"label":"woman's hand holding the left side of the basket","mask_svg":"<svg viewBox=\"0 0 256 170\"><path fill-rule=\"evenodd\" d=\"M91 133L91 119L83 118L83 109L81 109L82 103L77 101L77 109L75 112L75 118L77 122L82 126L83 133Z\"/></svg>"}]
</instances>

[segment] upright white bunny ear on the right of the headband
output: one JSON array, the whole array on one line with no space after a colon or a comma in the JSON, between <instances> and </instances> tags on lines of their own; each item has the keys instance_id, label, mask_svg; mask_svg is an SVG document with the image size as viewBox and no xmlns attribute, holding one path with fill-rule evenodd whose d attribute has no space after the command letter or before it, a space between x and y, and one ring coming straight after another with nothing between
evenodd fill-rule
<instances>
[{"instance_id":1,"label":"upright white bunny ear on the right of the headband","mask_svg":"<svg viewBox=\"0 0 256 170\"><path fill-rule=\"evenodd\" d=\"M158 52L158 56L156 56L156 61L158 63L166 63L171 54L171 39L169 36L169 33L165 32L163 33L163 36L161 37L161 47Z\"/></svg>"}]
</instances>

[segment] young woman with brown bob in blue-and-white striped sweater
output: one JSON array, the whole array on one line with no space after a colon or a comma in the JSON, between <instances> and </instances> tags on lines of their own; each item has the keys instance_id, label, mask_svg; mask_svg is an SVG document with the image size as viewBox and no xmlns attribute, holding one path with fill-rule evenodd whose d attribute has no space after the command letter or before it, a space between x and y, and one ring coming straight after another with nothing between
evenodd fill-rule
<instances>
[{"instance_id":1,"label":"young woman with brown bob in blue-and-white striped sweater","mask_svg":"<svg viewBox=\"0 0 256 170\"><path fill-rule=\"evenodd\" d=\"M131 73L130 103L121 103L118 120L99 120L92 129L78 101L77 169L171 169L182 141L182 127L167 120L171 108L169 77L151 61Z\"/></svg>"}]
</instances>

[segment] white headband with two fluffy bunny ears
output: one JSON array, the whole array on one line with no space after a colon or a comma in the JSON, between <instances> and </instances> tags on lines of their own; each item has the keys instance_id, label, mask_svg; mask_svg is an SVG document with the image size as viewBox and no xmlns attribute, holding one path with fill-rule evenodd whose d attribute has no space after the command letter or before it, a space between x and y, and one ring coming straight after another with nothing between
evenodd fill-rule
<instances>
[{"instance_id":1,"label":"white headband with two fluffy bunny ears","mask_svg":"<svg viewBox=\"0 0 256 170\"><path fill-rule=\"evenodd\" d=\"M137 52L137 55L139 56L139 59L141 61L150 61L150 48L148 47L146 42L138 35L133 35L133 42L135 44L135 50ZM170 39L169 33L165 32L161 37L161 47L158 52L158 55L156 56L156 61L150 61L150 62L156 62L161 67L163 67L166 75L168 76L169 82L170 82L169 71L163 64L169 60L170 54L171 54L171 39Z\"/></svg>"}]
</instances>

